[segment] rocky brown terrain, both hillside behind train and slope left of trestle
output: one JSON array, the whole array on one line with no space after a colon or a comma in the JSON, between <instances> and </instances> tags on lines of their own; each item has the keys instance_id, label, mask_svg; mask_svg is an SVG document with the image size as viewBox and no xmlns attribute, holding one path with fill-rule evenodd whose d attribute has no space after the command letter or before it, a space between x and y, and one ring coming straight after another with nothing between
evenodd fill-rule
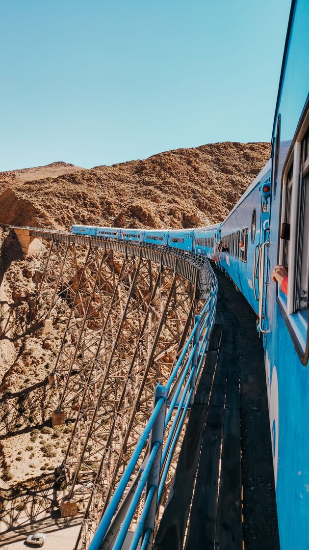
<instances>
[{"instance_id":1,"label":"rocky brown terrain, both hillside behind train and slope left of trestle","mask_svg":"<svg viewBox=\"0 0 309 550\"><path fill-rule=\"evenodd\" d=\"M69 229L73 223L147 228L216 223L269 152L267 143L227 142L90 170L57 162L2 172L0 224ZM24 259L5 228L0 248L0 492L3 502L22 511L23 495L42 476L48 480L62 461L71 425L52 430L50 423L54 396L47 375L63 331L61 319L59 331L43 331L46 306L37 289L47 250L43 246Z\"/></svg>"}]
</instances>

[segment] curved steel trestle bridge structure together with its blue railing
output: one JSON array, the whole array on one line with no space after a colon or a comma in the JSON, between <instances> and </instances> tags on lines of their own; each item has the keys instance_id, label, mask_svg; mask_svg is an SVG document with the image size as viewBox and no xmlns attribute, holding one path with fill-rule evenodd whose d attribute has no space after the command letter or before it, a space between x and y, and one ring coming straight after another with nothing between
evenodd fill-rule
<instances>
[{"instance_id":1,"label":"curved steel trestle bridge structure together with its blue railing","mask_svg":"<svg viewBox=\"0 0 309 550\"><path fill-rule=\"evenodd\" d=\"M48 375L51 420L74 420L54 499L64 517L77 514L78 495L86 504L75 549L117 510L122 543L130 531L130 548L150 548L207 353L216 277L191 252L10 227L25 255L37 239L47 247L37 299L44 332L63 331ZM122 547L106 533L104 548Z\"/></svg>"}]
</instances>

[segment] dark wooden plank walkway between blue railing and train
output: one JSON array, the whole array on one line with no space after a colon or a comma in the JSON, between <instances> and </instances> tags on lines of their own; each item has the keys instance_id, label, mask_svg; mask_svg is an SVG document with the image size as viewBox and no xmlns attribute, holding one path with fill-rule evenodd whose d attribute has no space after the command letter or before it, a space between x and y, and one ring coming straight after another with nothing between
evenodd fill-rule
<instances>
[{"instance_id":1,"label":"dark wooden plank walkway between blue railing and train","mask_svg":"<svg viewBox=\"0 0 309 550\"><path fill-rule=\"evenodd\" d=\"M217 324L155 548L279 550L263 349L250 306L217 276Z\"/></svg>"}]
</instances>

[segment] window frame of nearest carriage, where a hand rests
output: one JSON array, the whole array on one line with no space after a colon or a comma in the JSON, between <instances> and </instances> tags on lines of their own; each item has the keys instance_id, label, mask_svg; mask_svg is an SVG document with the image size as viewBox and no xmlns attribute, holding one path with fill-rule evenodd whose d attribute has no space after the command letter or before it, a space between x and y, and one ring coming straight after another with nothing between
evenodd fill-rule
<instances>
[{"instance_id":1,"label":"window frame of nearest carriage, where a hand rests","mask_svg":"<svg viewBox=\"0 0 309 550\"><path fill-rule=\"evenodd\" d=\"M282 171L282 185L279 216L278 263L284 259L284 239L280 238L280 228L285 219L286 185L288 174L293 166L293 186L291 193L291 225L288 250L289 276L288 294L280 285L276 289L276 301L288 327L291 339L302 365L309 358L309 103L297 126L294 139ZM302 297L305 284L306 296Z\"/></svg>"}]
</instances>

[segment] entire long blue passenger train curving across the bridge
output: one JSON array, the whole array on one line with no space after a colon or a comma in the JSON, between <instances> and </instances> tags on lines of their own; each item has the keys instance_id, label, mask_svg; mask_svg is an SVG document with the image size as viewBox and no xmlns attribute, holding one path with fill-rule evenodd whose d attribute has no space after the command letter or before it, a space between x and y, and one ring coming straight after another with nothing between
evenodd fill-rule
<instances>
[{"instance_id":1,"label":"entire long blue passenger train curving across the bridge","mask_svg":"<svg viewBox=\"0 0 309 550\"><path fill-rule=\"evenodd\" d=\"M309 2L293 1L271 160L222 223L198 229L73 226L74 234L195 251L229 274L264 345L282 550L309 548ZM285 287L273 281L284 266ZM276 268L278 269L278 268Z\"/></svg>"}]
</instances>

